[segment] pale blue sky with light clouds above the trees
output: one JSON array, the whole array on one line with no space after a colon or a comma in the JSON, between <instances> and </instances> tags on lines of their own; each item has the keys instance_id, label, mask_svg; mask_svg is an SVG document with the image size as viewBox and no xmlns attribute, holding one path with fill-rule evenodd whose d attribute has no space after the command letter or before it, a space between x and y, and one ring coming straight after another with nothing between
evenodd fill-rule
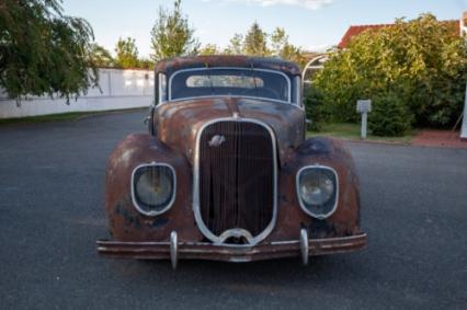
<instances>
[{"instance_id":1,"label":"pale blue sky with light clouds above the trees","mask_svg":"<svg viewBox=\"0 0 467 310\"><path fill-rule=\"evenodd\" d=\"M150 31L159 8L172 0L64 0L67 15L91 23L98 44L112 53L119 37L136 39L139 56L149 57ZM244 34L257 21L263 31L285 28L289 42L306 50L339 44L350 25L391 23L430 12L438 20L459 20L467 0L182 0L195 36L226 47L236 33Z\"/></svg>"}]
</instances>

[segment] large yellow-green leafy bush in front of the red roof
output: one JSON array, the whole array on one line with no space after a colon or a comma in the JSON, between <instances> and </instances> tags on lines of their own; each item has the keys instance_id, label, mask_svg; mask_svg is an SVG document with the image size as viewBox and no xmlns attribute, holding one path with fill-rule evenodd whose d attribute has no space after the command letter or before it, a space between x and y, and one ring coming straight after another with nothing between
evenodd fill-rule
<instances>
[{"instance_id":1,"label":"large yellow-green leafy bush in front of the red roof","mask_svg":"<svg viewBox=\"0 0 467 310\"><path fill-rule=\"evenodd\" d=\"M388 104L380 100L388 96L414 125L446 127L460 115L466 80L466 43L456 26L422 14L356 36L330 56L315 85L338 120L357 120L357 99Z\"/></svg>"}]
</instances>

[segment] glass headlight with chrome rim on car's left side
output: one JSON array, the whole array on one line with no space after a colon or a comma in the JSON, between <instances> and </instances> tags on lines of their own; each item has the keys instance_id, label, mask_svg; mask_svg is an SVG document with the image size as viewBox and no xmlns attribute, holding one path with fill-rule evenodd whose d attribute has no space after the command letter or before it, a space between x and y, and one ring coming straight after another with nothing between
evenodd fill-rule
<instances>
[{"instance_id":1,"label":"glass headlight with chrome rim on car's left side","mask_svg":"<svg viewBox=\"0 0 467 310\"><path fill-rule=\"evenodd\" d=\"M167 163L138 165L132 176L132 199L136 209L147 216L167 211L175 199L176 176Z\"/></svg>"}]
</instances>

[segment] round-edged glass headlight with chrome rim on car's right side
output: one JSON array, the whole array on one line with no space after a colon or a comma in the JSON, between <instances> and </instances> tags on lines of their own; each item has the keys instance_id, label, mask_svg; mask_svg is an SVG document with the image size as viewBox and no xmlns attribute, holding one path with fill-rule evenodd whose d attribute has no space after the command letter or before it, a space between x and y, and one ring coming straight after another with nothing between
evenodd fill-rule
<instances>
[{"instance_id":1,"label":"round-edged glass headlight with chrome rim on car's right side","mask_svg":"<svg viewBox=\"0 0 467 310\"><path fill-rule=\"evenodd\" d=\"M300 207L308 215L324 219L338 207L339 180L335 170L323 165L308 165L297 173L297 195Z\"/></svg>"}]
</instances>

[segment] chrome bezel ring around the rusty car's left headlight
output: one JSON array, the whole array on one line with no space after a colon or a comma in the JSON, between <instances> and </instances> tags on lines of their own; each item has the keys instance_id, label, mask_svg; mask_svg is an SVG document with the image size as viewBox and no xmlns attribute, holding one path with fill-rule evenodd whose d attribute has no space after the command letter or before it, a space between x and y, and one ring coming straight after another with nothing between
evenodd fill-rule
<instances>
[{"instance_id":1,"label":"chrome bezel ring around the rusty car's left headlight","mask_svg":"<svg viewBox=\"0 0 467 310\"><path fill-rule=\"evenodd\" d=\"M158 210L156 210L156 209L153 209L153 210L147 210L147 209L145 209L144 206L141 206L138 203L135 181L136 181L136 177L137 177L137 174L138 174L139 170L148 169L148 168L152 169L152 168L157 168L157 167L164 167L164 168L168 168L171 171L171 173L172 173L172 180L173 180L172 181L172 195L171 195L170 199L168 200L168 203L166 204L166 206L163 206L162 208L160 208ZM132 188L132 202L133 202L133 206L140 214L143 214L145 216L155 217L155 216L161 215L161 214L168 211L172 207L173 203L175 202L175 195L176 195L176 173L175 173L175 169L171 164L169 164L169 163L151 162L151 163L140 164L140 165L136 167L133 170L130 182L132 182L130 183L130 188Z\"/></svg>"}]
</instances>

